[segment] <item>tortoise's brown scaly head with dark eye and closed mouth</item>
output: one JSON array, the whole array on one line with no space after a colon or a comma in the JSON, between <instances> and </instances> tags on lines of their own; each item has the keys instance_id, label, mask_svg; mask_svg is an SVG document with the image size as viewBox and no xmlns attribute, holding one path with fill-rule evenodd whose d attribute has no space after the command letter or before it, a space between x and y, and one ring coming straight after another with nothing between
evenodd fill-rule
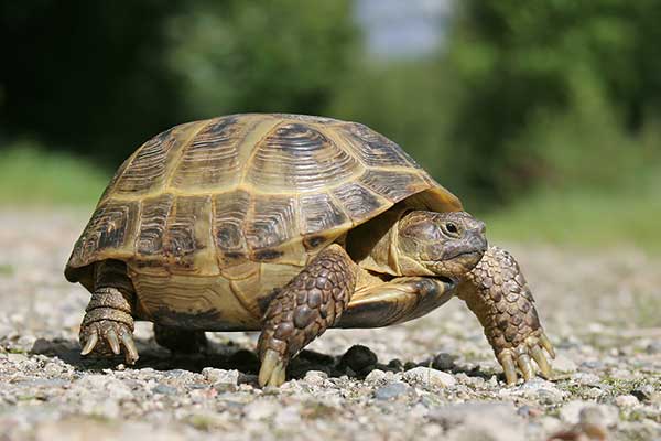
<instances>
[{"instance_id":1,"label":"tortoise's brown scaly head with dark eye and closed mouth","mask_svg":"<svg viewBox=\"0 0 661 441\"><path fill-rule=\"evenodd\" d=\"M400 270L404 276L462 278L487 250L485 232L484 222L466 212L409 212L398 226Z\"/></svg>"}]
</instances>

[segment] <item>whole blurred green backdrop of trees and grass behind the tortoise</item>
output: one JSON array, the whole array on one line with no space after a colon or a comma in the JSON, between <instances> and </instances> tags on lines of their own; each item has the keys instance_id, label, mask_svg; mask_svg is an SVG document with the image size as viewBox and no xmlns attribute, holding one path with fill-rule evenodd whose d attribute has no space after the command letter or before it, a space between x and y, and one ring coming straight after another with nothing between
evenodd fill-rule
<instances>
[{"instance_id":1,"label":"whole blurred green backdrop of trees and grass behind the tortoise","mask_svg":"<svg viewBox=\"0 0 661 441\"><path fill-rule=\"evenodd\" d=\"M91 209L138 146L364 122L491 237L661 250L661 1L0 0L0 211Z\"/></svg>"}]
</instances>

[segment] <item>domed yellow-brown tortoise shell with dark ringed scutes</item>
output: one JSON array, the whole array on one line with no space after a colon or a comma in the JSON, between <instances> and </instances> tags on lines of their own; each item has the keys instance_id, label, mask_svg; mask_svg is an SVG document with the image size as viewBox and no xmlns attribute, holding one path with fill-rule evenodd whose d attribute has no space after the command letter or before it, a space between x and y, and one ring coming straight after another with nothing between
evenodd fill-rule
<instances>
[{"instance_id":1,"label":"domed yellow-brown tortoise shell with dark ringed scutes","mask_svg":"<svg viewBox=\"0 0 661 441\"><path fill-rule=\"evenodd\" d=\"M201 276L250 261L301 265L411 196L430 209L460 208L399 146L362 125L258 114L189 122L121 165L65 273L88 284L88 266L104 259Z\"/></svg>"}]
</instances>

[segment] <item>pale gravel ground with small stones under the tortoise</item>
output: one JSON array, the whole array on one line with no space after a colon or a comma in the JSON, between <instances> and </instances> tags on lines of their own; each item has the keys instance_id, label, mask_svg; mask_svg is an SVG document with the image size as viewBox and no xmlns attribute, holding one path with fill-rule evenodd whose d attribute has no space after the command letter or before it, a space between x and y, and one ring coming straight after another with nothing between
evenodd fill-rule
<instances>
[{"instance_id":1,"label":"pale gravel ground with small stones under the tortoise","mask_svg":"<svg viewBox=\"0 0 661 441\"><path fill-rule=\"evenodd\" d=\"M0 211L2 441L661 440L659 258L508 247L559 353L551 381L505 387L453 300L404 325L328 331L260 389L254 334L209 333L210 354L173 358L139 323L137 366L82 359L88 293L62 270L86 215Z\"/></svg>"}]
</instances>

